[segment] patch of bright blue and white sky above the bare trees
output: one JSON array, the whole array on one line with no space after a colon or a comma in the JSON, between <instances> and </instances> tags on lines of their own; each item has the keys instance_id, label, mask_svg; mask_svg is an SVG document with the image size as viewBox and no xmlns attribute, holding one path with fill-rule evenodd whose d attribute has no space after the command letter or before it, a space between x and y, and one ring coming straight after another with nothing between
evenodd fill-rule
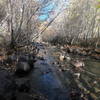
<instances>
[{"instance_id":1,"label":"patch of bright blue and white sky above the bare trees","mask_svg":"<svg viewBox=\"0 0 100 100\"><path fill-rule=\"evenodd\" d=\"M43 4L39 20L40 21L47 21L52 19L60 10L64 9L68 5L68 0L38 0Z\"/></svg>"}]
</instances>

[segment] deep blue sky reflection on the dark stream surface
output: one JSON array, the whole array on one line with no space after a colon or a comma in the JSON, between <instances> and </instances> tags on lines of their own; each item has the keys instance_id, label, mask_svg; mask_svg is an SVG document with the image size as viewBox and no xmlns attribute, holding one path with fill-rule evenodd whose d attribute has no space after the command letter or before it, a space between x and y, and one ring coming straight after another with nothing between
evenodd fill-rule
<instances>
[{"instance_id":1,"label":"deep blue sky reflection on the dark stream surface","mask_svg":"<svg viewBox=\"0 0 100 100\"><path fill-rule=\"evenodd\" d=\"M52 71L50 59L38 60L32 73L31 87L42 93L48 100L67 100L67 93L58 76ZM43 64L44 63L44 64ZM62 98L62 99L61 99Z\"/></svg>"}]
</instances>

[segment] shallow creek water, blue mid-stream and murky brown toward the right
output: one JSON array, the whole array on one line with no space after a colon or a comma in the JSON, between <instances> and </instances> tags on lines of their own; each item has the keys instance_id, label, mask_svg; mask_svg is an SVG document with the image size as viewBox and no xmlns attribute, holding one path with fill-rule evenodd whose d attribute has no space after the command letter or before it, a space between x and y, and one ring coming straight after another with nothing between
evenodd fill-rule
<instances>
[{"instance_id":1,"label":"shallow creek water, blue mid-stream and murky brown toward the right","mask_svg":"<svg viewBox=\"0 0 100 100\"><path fill-rule=\"evenodd\" d=\"M44 46L44 44L37 45L39 48L37 61L31 74L27 77L32 94L43 95L46 99L42 100L72 100L70 93L74 88L78 93L83 91L82 93L89 94L90 97L87 100L100 100L99 61L86 59L84 71L81 73L80 79L77 79L74 77L70 62L58 60L57 57L61 50L53 46ZM74 56L73 59L76 57ZM61 70L57 62L63 65L65 70ZM22 82L22 79L20 80Z\"/></svg>"}]
</instances>

